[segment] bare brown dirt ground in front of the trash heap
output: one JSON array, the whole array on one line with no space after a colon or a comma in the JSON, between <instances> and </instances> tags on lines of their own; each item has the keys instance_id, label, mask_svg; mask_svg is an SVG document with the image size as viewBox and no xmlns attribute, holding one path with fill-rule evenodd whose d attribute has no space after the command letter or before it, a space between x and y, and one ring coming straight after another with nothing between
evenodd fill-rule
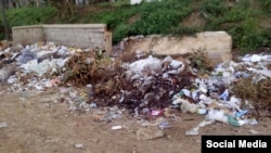
<instances>
[{"instance_id":1,"label":"bare brown dirt ground in front of the trash heap","mask_svg":"<svg viewBox=\"0 0 271 153\"><path fill-rule=\"evenodd\" d=\"M270 135L271 119L260 118L258 125L233 127L216 123L203 127L198 136L186 136L204 116L178 114L165 136L151 140L137 140L142 128L138 119L122 114L109 123L96 115L74 114L67 103L55 102L57 89L22 98L0 86L1 153L199 153L202 135ZM121 125L119 130L111 127ZM76 148L82 144L82 148Z\"/></svg>"}]
</instances>

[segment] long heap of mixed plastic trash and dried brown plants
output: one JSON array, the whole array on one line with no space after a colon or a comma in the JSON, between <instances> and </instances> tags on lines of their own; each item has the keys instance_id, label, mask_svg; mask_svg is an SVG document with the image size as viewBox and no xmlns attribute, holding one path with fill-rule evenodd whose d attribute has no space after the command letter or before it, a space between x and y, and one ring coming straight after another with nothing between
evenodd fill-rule
<instances>
[{"instance_id":1,"label":"long heap of mixed plastic trash and dried brown plants","mask_svg":"<svg viewBox=\"0 0 271 153\"><path fill-rule=\"evenodd\" d=\"M0 51L0 81L25 97L28 91L59 87L60 99L72 112L117 106L144 118L163 115L167 109L205 115L204 123L189 133L214 122L257 124L256 118L263 116L259 112L271 110L271 55L267 53L216 66L201 51L122 61L104 50L52 42L9 47Z\"/></svg>"}]
</instances>

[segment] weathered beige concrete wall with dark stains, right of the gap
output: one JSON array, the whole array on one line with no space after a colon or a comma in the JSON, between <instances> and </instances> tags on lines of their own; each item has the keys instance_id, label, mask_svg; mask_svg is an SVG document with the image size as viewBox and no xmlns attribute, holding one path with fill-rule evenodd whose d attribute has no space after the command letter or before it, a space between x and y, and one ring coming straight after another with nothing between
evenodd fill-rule
<instances>
[{"instance_id":1,"label":"weathered beige concrete wall with dark stains, right of the gap","mask_svg":"<svg viewBox=\"0 0 271 153\"><path fill-rule=\"evenodd\" d=\"M204 51L214 63L232 60L232 37L225 31L204 31L195 37L149 36L134 43L132 51L153 51L155 54L185 54Z\"/></svg>"}]
</instances>

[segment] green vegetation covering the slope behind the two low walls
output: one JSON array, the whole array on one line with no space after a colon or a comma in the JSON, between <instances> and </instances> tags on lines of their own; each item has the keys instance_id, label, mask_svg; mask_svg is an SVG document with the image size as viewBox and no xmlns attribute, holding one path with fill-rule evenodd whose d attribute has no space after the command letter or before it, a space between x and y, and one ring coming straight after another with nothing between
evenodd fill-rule
<instances>
[{"instance_id":1,"label":"green vegetation covering the slope behind the two low walls","mask_svg":"<svg viewBox=\"0 0 271 153\"><path fill-rule=\"evenodd\" d=\"M184 24L195 12L201 14L205 24ZM225 0L162 0L136 5L129 5L127 0L118 0L116 3L96 5L7 11L10 27L43 23L105 23L113 31L114 43L134 35L183 36L203 30L225 30L233 37L233 47L243 52L271 47L270 27L262 27L259 21L262 16L270 16L270 13L271 0L240 0L233 3Z\"/></svg>"}]
</instances>

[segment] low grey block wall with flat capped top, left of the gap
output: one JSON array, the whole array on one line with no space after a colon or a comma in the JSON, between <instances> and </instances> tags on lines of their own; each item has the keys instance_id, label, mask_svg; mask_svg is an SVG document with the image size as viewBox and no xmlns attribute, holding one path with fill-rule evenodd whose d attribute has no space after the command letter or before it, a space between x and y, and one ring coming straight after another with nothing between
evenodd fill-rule
<instances>
[{"instance_id":1,"label":"low grey block wall with flat capped top, left of the gap","mask_svg":"<svg viewBox=\"0 0 271 153\"><path fill-rule=\"evenodd\" d=\"M101 48L112 51L112 33L104 24L64 24L12 28L13 43L50 41L59 46Z\"/></svg>"}]
</instances>

